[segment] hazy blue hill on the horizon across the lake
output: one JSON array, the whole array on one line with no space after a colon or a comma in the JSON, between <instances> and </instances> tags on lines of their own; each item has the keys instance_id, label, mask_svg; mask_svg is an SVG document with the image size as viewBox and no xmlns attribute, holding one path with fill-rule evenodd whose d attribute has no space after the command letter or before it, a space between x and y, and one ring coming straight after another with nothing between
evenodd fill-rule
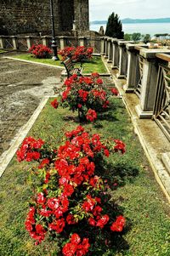
<instances>
[{"instance_id":1,"label":"hazy blue hill on the horizon across the lake","mask_svg":"<svg viewBox=\"0 0 170 256\"><path fill-rule=\"evenodd\" d=\"M122 19L122 23L170 23L170 18L160 18L160 19ZM106 24L107 20L94 20L90 24Z\"/></svg>"}]
</instances>

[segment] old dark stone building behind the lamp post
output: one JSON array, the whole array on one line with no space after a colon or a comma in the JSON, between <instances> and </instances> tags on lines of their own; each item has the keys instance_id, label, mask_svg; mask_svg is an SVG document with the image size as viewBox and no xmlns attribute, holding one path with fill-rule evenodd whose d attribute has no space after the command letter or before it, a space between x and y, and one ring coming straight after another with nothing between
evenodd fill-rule
<instances>
[{"instance_id":1,"label":"old dark stone building behind the lamp post","mask_svg":"<svg viewBox=\"0 0 170 256\"><path fill-rule=\"evenodd\" d=\"M53 0L56 35L86 35L88 0ZM74 21L75 20L75 21ZM50 0L0 0L0 35L51 34Z\"/></svg>"}]
</instances>

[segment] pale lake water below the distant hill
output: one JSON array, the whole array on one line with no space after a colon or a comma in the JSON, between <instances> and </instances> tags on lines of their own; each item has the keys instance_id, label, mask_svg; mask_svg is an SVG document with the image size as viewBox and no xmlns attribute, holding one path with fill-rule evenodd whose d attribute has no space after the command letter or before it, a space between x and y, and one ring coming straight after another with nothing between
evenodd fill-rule
<instances>
[{"instance_id":1,"label":"pale lake water below the distant hill","mask_svg":"<svg viewBox=\"0 0 170 256\"><path fill-rule=\"evenodd\" d=\"M91 31L99 31L100 26L106 24L95 24L90 26ZM141 34L150 34L153 37L155 34L170 34L170 23L135 23L135 24L122 24L124 33L133 34L139 32Z\"/></svg>"}]
</instances>

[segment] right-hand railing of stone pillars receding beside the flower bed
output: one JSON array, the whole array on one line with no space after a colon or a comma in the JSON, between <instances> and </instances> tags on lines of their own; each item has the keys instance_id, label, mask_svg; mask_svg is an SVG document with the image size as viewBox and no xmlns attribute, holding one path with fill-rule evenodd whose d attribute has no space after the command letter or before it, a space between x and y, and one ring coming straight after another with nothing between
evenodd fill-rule
<instances>
[{"instance_id":1,"label":"right-hand railing of stone pillars receding beside the flower bed","mask_svg":"<svg viewBox=\"0 0 170 256\"><path fill-rule=\"evenodd\" d=\"M170 49L111 37L100 40L101 54L117 69L117 78L126 79L125 92L138 96L139 118L156 120L170 140Z\"/></svg>"}]
</instances>

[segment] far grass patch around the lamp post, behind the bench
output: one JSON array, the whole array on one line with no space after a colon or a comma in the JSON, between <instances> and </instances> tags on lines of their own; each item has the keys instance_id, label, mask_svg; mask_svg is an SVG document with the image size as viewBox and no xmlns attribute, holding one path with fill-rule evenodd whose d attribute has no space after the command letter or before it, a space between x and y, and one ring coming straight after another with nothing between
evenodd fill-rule
<instances>
[{"instance_id":1,"label":"far grass patch around the lamp post, behind the bench","mask_svg":"<svg viewBox=\"0 0 170 256\"><path fill-rule=\"evenodd\" d=\"M29 60L29 61L35 61L37 63L43 63L48 65L59 65L63 66L61 64L61 56L59 55L59 60L51 60L51 59L36 59L31 57L31 54L19 54L15 55L14 58L20 59L20 60ZM75 66L80 66L80 64L76 64ZM92 72L99 72L99 73L107 73L105 69L105 65L103 61L101 60L101 57L94 56L92 60L83 63L83 73L92 73Z\"/></svg>"}]
</instances>

